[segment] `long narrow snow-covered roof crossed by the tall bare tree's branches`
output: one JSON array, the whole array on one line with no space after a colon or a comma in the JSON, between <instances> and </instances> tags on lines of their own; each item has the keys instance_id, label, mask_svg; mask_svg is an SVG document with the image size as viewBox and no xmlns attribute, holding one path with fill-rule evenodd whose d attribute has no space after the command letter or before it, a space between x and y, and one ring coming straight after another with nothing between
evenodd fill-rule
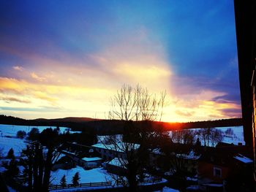
<instances>
[{"instance_id":1,"label":"long narrow snow-covered roof crossed by the tall bare tree's branches","mask_svg":"<svg viewBox=\"0 0 256 192\"><path fill-rule=\"evenodd\" d=\"M107 150L116 150L118 152L124 152L126 150L126 147L128 150L138 150L140 147L139 144L135 143L129 143L129 142L117 142L115 145L110 144L102 144L102 143L97 143L95 145L91 145L92 147L97 147L97 148L102 148L102 149L107 149Z\"/></svg>"}]
</instances>

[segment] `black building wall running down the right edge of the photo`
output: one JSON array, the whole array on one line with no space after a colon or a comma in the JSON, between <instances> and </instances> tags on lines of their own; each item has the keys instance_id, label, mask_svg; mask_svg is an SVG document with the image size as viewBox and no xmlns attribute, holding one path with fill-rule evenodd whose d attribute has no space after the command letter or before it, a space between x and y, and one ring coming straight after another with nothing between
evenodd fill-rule
<instances>
[{"instance_id":1,"label":"black building wall running down the right edge of the photo","mask_svg":"<svg viewBox=\"0 0 256 192\"><path fill-rule=\"evenodd\" d=\"M256 1L235 0L234 5L244 139L256 157Z\"/></svg>"}]
</instances>

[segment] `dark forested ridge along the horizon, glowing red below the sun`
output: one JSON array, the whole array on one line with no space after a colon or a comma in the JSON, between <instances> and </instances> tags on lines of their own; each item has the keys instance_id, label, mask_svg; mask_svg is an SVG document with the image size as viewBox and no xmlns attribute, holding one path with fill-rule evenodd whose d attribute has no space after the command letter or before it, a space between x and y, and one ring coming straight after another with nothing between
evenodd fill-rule
<instances>
[{"instance_id":1,"label":"dark forested ridge along the horizon, glowing red below the sun","mask_svg":"<svg viewBox=\"0 0 256 192\"><path fill-rule=\"evenodd\" d=\"M101 120L94 118L39 118L34 120L25 120L6 115L0 115L0 123L20 126L63 126L72 128L73 131L94 131L97 132L97 134L121 134L124 127L124 122L121 120ZM141 122L135 123L139 125L138 123ZM152 128L162 129L165 131L185 128L227 127L242 125L242 118L206 120L188 123L151 122Z\"/></svg>"}]
</instances>

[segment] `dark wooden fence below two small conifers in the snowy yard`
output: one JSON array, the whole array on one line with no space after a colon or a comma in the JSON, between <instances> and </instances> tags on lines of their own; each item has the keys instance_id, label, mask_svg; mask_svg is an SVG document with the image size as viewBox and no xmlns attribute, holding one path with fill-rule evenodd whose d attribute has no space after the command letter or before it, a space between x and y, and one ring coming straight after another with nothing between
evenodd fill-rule
<instances>
[{"instance_id":1,"label":"dark wooden fence below two small conifers in the snowy yard","mask_svg":"<svg viewBox=\"0 0 256 192\"><path fill-rule=\"evenodd\" d=\"M63 185L50 185L49 191L65 188L89 188L89 187L101 187L101 186L110 186L111 182L98 182L98 183L79 183L78 185L67 184Z\"/></svg>"}]
</instances>

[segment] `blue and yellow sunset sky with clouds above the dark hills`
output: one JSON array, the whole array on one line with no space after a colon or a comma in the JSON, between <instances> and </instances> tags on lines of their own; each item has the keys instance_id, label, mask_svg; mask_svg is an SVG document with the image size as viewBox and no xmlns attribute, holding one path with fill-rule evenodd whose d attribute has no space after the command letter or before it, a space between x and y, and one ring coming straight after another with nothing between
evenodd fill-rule
<instances>
[{"instance_id":1,"label":"blue and yellow sunset sky with clouds above the dark hills","mask_svg":"<svg viewBox=\"0 0 256 192\"><path fill-rule=\"evenodd\" d=\"M108 118L124 83L165 121L241 117L233 1L0 0L0 114Z\"/></svg>"}]
</instances>

